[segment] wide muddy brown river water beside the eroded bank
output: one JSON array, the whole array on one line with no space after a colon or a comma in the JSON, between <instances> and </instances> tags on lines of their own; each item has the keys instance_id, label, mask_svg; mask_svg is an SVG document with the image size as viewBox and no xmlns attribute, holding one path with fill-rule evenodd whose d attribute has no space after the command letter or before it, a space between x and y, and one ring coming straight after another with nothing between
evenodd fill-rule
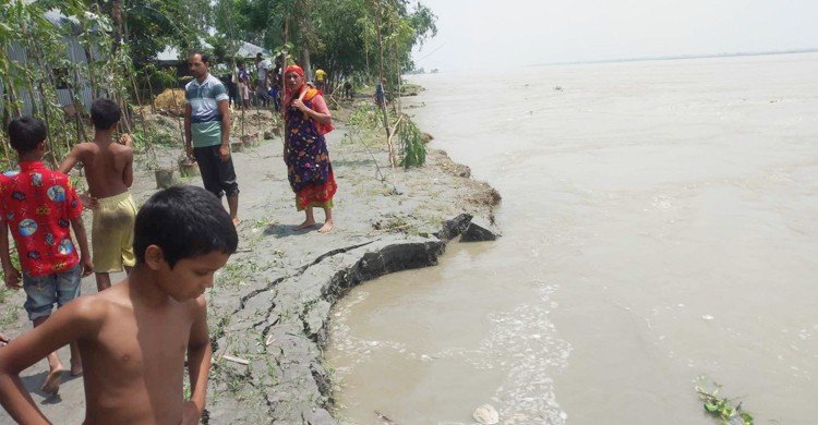
<instances>
[{"instance_id":1,"label":"wide muddy brown river water beside the eroded bank","mask_svg":"<svg viewBox=\"0 0 818 425\"><path fill-rule=\"evenodd\" d=\"M368 282L326 353L347 423L818 423L818 54L422 75L503 238Z\"/></svg>"}]
</instances>

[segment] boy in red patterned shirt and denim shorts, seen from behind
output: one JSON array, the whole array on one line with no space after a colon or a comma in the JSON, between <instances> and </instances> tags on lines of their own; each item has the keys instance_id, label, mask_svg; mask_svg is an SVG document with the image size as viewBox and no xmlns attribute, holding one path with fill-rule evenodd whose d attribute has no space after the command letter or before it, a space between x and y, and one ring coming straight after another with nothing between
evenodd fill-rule
<instances>
[{"instance_id":1,"label":"boy in red patterned shirt and denim shorts, seen from behind","mask_svg":"<svg viewBox=\"0 0 818 425\"><path fill-rule=\"evenodd\" d=\"M80 295L82 276L93 271L88 242L81 218L83 205L68 175L51 171L41 162L46 153L46 126L24 117L9 124L11 146L17 151L20 171L0 177L0 263L5 286L20 289L20 271L11 264L9 233L17 246L23 269L25 309L34 327L58 307ZM82 257L77 256L71 231L74 229ZM82 374L76 344L71 344L71 375ZM43 391L57 393L62 363L56 352L48 354L49 373Z\"/></svg>"}]
</instances>

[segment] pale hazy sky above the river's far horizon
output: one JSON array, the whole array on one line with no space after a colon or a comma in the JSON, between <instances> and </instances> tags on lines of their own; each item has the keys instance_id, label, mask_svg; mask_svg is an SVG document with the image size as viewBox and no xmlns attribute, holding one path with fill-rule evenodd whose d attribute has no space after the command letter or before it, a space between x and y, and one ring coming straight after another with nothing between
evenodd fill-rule
<instances>
[{"instance_id":1,"label":"pale hazy sky above the river's far horizon","mask_svg":"<svg viewBox=\"0 0 818 425\"><path fill-rule=\"evenodd\" d=\"M418 68L467 71L818 48L818 0L421 0Z\"/></svg>"}]
</instances>

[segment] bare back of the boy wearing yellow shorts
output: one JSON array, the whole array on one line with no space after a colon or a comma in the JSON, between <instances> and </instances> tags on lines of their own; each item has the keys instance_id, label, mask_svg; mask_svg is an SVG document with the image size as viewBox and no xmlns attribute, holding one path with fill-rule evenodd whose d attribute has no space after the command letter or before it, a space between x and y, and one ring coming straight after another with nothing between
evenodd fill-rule
<instances>
[{"instance_id":1,"label":"bare back of the boy wearing yellow shorts","mask_svg":"<svg viewBox=\"0 0 818 425\"><path fill-rule=\"evenodd\" d=\"M85 169L88 191L96 198L116 196L128 192L133 183L133 149L113 142L81 143L60 166L68 172L77 162Z\"/></svg>"}]
</instances>

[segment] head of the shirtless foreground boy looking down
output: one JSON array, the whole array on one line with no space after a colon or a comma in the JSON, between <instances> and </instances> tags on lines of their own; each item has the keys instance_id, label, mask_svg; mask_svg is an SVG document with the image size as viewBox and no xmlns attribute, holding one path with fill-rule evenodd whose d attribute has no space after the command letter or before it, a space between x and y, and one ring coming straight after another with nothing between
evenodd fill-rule
<instances>
[{"instance_id":1,"label":"head of the shirtless foreground boy looking down","mask_svg":"<svg viewBox=\"0 0 818 425\"><path fill-rule=\"evenodd\" d=\"M212 193L195 186L157 192L136 215L136 264L158 272L159 284L177 301L213 286L239 243L230 216Z\"/></svg>"}]
</instances>

